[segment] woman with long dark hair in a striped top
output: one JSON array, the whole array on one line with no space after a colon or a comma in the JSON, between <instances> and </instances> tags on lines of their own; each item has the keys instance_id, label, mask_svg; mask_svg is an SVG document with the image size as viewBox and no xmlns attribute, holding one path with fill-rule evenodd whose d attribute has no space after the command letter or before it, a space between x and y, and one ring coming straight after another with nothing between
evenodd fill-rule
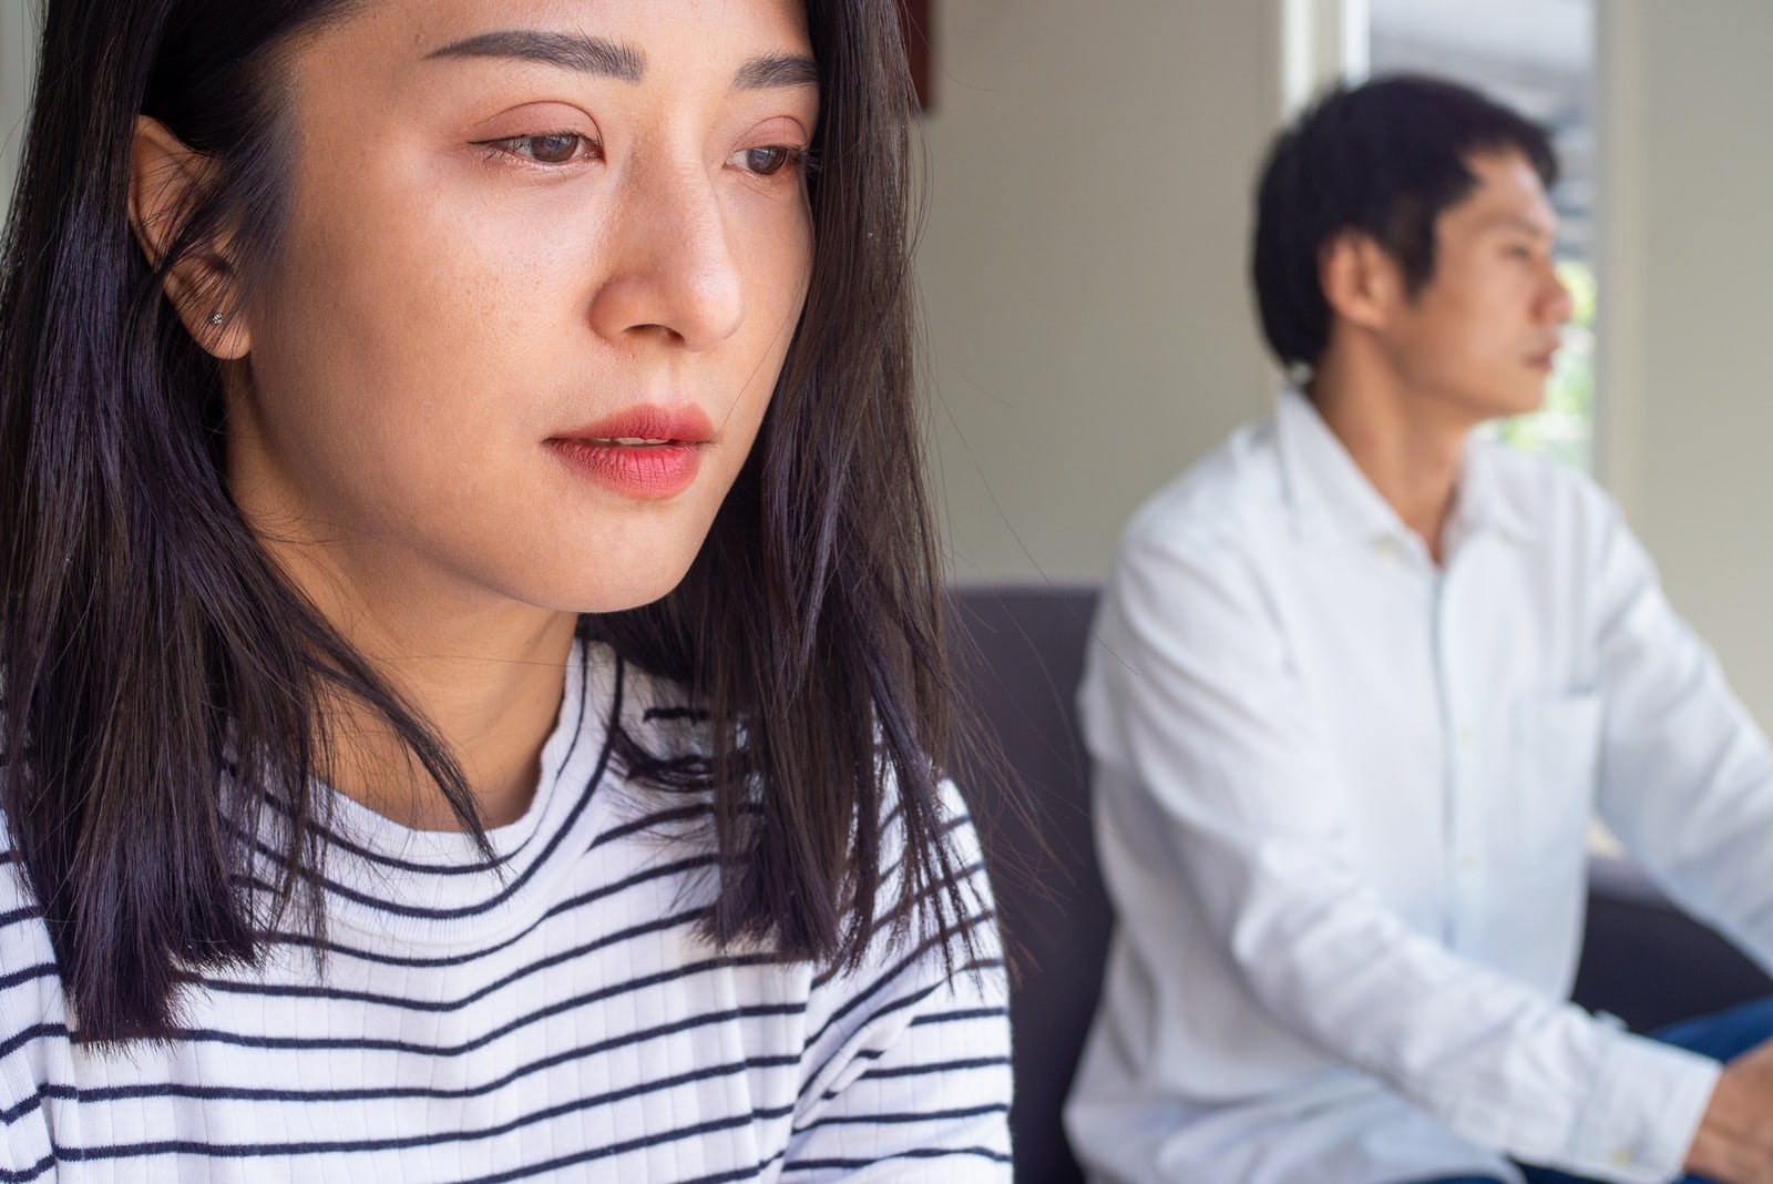
<instances>
[{"instance_id":1,"label":"woman with long dark hair in a striped top","mask_svg":"<svg viewBox=\"0 0 1773 1184\"><path fill-rule=\"evenodd\" d=\"M1007 1173L886 0L50 0L0 1179Z\"/></svg>"}]
</instances>

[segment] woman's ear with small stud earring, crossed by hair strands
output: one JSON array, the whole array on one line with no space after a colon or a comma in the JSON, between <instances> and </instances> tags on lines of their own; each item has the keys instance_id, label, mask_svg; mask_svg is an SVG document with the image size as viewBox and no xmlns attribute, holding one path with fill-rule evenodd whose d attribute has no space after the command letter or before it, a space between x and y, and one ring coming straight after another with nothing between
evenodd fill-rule
<instances>
[{"instance_id":1,"label":"woman's ear with small stud earring, crossed by hair strands","mask_svg":"<svg viewBox=\"0 0 1773 1184\"><path fill-rule=\"evenodd\" d=\"M129 229L149 266L160 266L202 200L211 172L207 165L206 156L188 149L158 119L140 115L135 121ZM252 351L238 278L222 245L199 243L167 271L163 284L167 300L199 346L223 360L245 358Z\"/></svg>"}]
</instances>

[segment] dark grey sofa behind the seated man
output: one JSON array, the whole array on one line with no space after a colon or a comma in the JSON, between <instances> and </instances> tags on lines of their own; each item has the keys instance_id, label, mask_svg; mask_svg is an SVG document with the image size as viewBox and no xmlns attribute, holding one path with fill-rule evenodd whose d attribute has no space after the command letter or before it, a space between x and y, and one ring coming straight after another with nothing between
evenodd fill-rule
<instances>
[{"instance_id":1,"label":"dark grey sofa behind the seated man","mask_svg":"<svg viewBox=\"0 0 1773 1184\"><path fill-rule=\"evenodd\" d=\"M1087 760L1073 714L1096 588L1085 583L961 585L950 608L963 689L1007 776L957 769L993 869L1019 964L1016 1180L1080 1180L1060 1106L1089 1028L1112 913L1090 838ZM1019 789L1014 808L993 785ZM1768 994L1773 984L1713 931L1675 911L1626 863L1590 867L1576 1001L1647 1030Z\"/></svg>"}]
</instances>

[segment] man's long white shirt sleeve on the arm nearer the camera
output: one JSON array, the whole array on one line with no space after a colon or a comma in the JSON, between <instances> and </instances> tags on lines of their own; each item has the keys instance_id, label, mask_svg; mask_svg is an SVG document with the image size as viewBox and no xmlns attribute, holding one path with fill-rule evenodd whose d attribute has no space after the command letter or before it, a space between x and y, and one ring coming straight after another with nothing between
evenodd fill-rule
<instances>
[{"instance_id":1,"label":"man's long white shirt sleeve on the arm nearer the camera","mask_svg":"<svg viewBox=\"0 0 1773 1184\"><path fill-rule=\"evenodd\" d=\"M1103 826L1152 819L1254 1000L1461 1138L1606 1180L1677 1175L1716 1063L1452 954L1363 881L1349 798L1236 539L1135 532L1099 619ZM1106 755L1105 755L1106 753ZM1433 792L1433 787L1424 787Z\"/></svg>"}]
</instances>

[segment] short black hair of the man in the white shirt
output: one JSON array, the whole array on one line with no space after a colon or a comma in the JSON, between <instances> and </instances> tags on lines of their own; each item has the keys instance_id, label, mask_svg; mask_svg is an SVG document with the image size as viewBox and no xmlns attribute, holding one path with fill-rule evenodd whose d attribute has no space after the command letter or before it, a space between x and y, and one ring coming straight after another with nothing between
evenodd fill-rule
<instances>
[{"instance_id":1,"label":"short black hair of the man in the white shirt","mask_svg":"<svg viewBox=\"0 0 1773 1184\"><path fill-rule=\"evenodd\" d=\"M1335 87L1275 136L1255 200L1252 273L1262 333L1285 367L1330 344L1319 262L1337 236L1365 234L1410 294L1434 277L1434 222L1464 200L1479 152L1519 152L1550 190L1546 129L1466 87L1394 74Z\"/></svg>"}]
</instances>

